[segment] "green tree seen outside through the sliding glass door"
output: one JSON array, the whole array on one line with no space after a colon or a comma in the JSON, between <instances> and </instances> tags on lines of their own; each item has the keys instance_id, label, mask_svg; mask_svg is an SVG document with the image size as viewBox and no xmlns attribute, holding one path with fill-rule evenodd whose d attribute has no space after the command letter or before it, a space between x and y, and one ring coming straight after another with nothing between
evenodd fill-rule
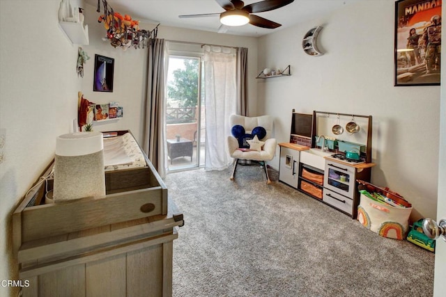
<instances>
[{"instance_id":1,"label":"green tree seen outside through the sliding glass door","mask_svg":"<svg viewBox=\"0 0 446 297\"><path fill-rule=\"evenodd\" d=\"M174 81L167 86L169 98L176 100L179 107L197 106L198 59L184 59L185 69L174 70Z\"/></svg>"}]
</instances>

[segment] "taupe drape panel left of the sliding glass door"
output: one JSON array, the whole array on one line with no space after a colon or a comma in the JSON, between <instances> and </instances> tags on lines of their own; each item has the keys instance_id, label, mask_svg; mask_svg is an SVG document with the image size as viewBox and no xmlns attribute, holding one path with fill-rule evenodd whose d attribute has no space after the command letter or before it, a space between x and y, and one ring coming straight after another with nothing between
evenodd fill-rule
<instances>
[{"instance_id":1,"label":"taupe drape panel left of the sliding glass door","mask_svg":"<svg viewBox=\"0 0 446 297\"><path fill-rule=\"evenodd\" d=\"M155 39L148 47L147 87L144 102L143 150L161 177L166 175L166 154L164 152L164 85L167 69L164 59L164 39Z\"/></svg>"}]
</instances>

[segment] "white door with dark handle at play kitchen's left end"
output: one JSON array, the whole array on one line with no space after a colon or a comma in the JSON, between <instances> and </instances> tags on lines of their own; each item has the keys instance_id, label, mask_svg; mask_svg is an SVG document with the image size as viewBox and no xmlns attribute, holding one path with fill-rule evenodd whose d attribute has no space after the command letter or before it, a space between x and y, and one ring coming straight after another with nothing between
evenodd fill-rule
<instances>
[{"instance_id":1,"label":"white door with dark handle at play kitchen's left end","mask_svg":"<svg viewBox=\"0 0 446 297\"><path fill-rule=\"evenodd\" d=\"M298 188L299 151L280 147L279 181Z\"/></svg>"}]
</instances>

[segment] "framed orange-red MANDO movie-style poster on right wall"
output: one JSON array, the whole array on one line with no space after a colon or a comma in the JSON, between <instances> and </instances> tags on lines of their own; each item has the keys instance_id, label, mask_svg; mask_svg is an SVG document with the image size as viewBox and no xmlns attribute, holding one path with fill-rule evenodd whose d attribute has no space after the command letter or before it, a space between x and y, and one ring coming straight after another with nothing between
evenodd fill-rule
<instances>
[{"instance_id":1,"label":"framed orange-red MANDO movie-style poster on right wall","mask_svg":"<svg viewBox=\"0 0 446 297\"><path fill-rule=\"evenodd\" d=\"M440 85L441 2L395 2L394 86Z\"/></svg>"}]
</instances>

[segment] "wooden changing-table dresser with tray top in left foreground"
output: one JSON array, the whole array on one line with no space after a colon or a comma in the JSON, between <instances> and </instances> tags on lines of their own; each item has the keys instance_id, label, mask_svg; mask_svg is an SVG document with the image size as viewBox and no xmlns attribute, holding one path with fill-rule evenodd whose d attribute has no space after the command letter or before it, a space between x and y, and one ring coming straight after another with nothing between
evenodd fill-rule
<instances>
[{"instance_id":1,"label":"wooden changing-table dresser with tray top in left foreground","mask_svg":"<svg viewBox=\"0 0 446 297\"><path fill-rule=\"evenodd\" d=\"M102 197L34 205L47 195L45 182L25 196L13 214L19 276L29 282L22 296L171 296L183 214L146 161L139 172L107 172Z\"/></svg>"}]
</instances>

